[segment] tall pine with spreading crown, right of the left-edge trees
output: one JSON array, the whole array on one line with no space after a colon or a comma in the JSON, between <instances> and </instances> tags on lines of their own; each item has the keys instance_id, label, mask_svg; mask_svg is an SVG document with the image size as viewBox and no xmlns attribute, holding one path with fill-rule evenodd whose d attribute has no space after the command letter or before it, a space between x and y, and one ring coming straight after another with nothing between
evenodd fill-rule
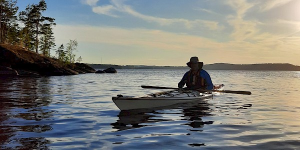
<instances>
[{"instance_id":1,"label":"tall pine with spreading crown, right of the left-edge trees","mask_svg":"<svg viewBox=\"0 0 300 150\"><path fill-rule=\"evenodd\" d=\"M42 16L41 13L45 11L47 5L45 0L40 0L38 4L27 5L24 11L19 12L19 20L25 25L23 29L29 31L25 35L25 46L29 49L35 48L38 50L38 36L41 34L40 30L43 24L48 23L55 25L54 18Z\"/></svg>"}]
</instances>

